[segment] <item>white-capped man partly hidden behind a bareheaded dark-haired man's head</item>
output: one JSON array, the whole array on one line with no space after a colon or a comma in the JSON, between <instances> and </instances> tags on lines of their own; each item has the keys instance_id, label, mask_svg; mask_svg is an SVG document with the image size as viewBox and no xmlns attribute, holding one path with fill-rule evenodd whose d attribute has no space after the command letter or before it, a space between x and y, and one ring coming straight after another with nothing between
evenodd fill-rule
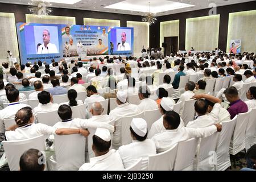
<instances>
[{"instance_id":1,"label":"white-capped man partly hidden behind a bareheaded dark-haired man's head","mask_svg":"<svg viewBox=\"0 0 256 182\"><path fill-rule=\"evenodd\" d=\"M163 97L162 101L160 102L160 113L162 114L162 117L155 121L150 129L150 132L148 133L148 138L154 137L155 134L160 133L161 131L166 130L163 126L163 115L166 113L166 111L174 110L175 101L170 97ZM183 120L180 118L180 125L179 127L184 126Z\"/></svg>"}]
</instances>

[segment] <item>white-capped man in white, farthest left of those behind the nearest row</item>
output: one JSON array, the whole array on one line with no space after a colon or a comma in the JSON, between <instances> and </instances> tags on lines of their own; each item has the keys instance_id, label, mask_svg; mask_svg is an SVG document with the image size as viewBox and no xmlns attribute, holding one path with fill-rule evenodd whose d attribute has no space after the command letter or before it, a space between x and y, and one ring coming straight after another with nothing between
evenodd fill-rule
<instances>
[{"instance_id":1,"label":"white-capped man in white, farthest left of those behind the nearest row","mask_svg":"<svg viewBox=\"0 0 256 182\"><path fill-rule=\"evenodd\" d=\"M118 149L121 146L121 126L122 123L119 121L122 117L136 115L141 113L141 110L137 105L129 104L127 101L127 92L118 90L116 98L118 106L110 111L109 117L110 122L114 121L115 132L113 134L112 146Z\"/></svg>"}]
</instances>

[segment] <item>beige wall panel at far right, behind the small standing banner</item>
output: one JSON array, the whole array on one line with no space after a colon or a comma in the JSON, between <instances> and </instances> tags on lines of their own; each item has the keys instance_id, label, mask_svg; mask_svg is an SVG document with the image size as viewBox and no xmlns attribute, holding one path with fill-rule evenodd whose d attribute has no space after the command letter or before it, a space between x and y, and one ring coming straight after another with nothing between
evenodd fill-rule
<instances>
[{"instance_id":1,"label":"beige wall panel at far right, behind the small standing banner","mask_svg":"<svg viewBox=\"0 0 256 182\"><path fill-rule=\"evenodd\" d=\"M242 11L229 14L228 42L229 51L230 40L241 39L241 52L256 51L256 10Z\"/></svg>"}]
</instances>

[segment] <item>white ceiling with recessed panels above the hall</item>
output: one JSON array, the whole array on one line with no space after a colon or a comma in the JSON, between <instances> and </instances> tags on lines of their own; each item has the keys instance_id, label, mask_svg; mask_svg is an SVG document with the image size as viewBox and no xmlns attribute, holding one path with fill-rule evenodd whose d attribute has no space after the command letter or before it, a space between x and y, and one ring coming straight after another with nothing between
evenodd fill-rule
<instances>
[{"instance_id":1,"label":"white ceiling with recessed panels above the hall","mask_svg":"<svg viewBox=\"0 0 256 182\"><path fill-rule=\"evenodd\" d=\"M51 0L48 0L51 1ZM62 7L68 9L79 9L79 10L92 10L92 11L101 11L101 12L109 12L109 13L121 13L121 14L131 14L131 15L144 15L144 12L148 9L148 0L128 0L129 7L133 10L124 10L125 8L122 6L117 6L119 8L109 9L105 8L106 6L113 5L115 3L123 2L124 0L81 0L73 5L62 4L62 3L52 3L52 7ZM172 5L169 2L164 1L172 1L172 2L180 2L186 3L188 5L194 5L192 7L185 7L176 10L172 9ZM158 11L162 11L157 13L156 16L183 13L185 11L194 11L200 9L207 9L210 3L215 3L217 6L225 6L225 5L233 5L236 3L249 2L252 0L150 0L151 6L150 9L154 11L157 9ZM14 3L20 5L28 5L28 0L0 0L3 3ZM144 3L144 9L138 9ZM125 4L125 6L128 6ZM170 9L166 9L163 6L170 6ZM115 8L115 7L114 7ZM121 10L122 9L122 10ZM161 10L162 9L162 10ZM151 13L152 13L151 11Z\"/></svg>"}]
</instances>

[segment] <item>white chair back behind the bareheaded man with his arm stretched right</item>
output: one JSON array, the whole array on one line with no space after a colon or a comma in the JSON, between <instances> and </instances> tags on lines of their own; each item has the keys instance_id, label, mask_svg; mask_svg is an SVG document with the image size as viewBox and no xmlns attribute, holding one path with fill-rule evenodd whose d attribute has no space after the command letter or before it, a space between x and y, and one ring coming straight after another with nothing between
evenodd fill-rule
<instances>
[{"instance_id":1,"label":"white chair back behind the bareheaded man with his arm stretched right","mask_svg":"<svg viewBox=\"0 0 256 182\"><path fill-rule=\"evenodd\" d=\"M148 156L148 171L172 171L177 154L177 144L167 151Z\"/></svg>"}]
</instances>

